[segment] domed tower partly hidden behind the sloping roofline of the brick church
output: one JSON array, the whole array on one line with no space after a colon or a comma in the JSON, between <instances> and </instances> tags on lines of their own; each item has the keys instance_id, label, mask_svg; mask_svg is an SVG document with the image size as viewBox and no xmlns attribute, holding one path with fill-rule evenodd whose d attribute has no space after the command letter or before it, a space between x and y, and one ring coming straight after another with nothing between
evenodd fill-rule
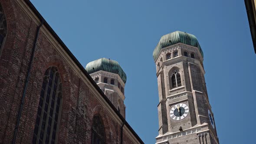
<instances>
[{"instance_id":1,"label":"domed tower partly hidden behind the sloping roofline of the brick church","mask_svg":"<svg viewBox=\"0 0 256 144\"><path fill-rule=\"evenodd\" d=\"M89 62L86 71L125 118L126 74L117 61L101 58Z\"/></svg>"}]
</instances>

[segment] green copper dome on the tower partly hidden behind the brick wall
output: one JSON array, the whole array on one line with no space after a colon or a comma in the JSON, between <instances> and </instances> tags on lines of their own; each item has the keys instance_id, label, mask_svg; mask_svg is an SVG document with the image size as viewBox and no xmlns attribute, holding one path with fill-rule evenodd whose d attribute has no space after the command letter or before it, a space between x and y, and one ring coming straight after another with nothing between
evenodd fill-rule
<instances>
[{"instance_id":1,"label":"green copper dome on the tower partly hidden behind the brick wall","mask_svg":"<svg viewBox=\"0 0 256 144\"><path fill-rule=\"evenodd\" d=\"M93 72L98 72L100 70L106 71L106 72L112 72L112 73L118 74L124 83L126 82L126 74L121 68L121 66L118 64L118 62L115 60L106 59L106 58L97 59L95 61L89 62L85 66L85 70L89 74Z\"/></svg>"}]
</instances>

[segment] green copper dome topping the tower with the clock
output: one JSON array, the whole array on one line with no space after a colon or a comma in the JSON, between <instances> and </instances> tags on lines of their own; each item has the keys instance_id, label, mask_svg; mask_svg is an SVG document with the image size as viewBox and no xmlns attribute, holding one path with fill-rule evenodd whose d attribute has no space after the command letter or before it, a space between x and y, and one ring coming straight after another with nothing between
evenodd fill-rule
<instances>
[{"instance_id":1,"label":"green copper dome topping the tower with the clock","mask_svg":"<svg viewBox=\"0 0 256 144\"><path fill-rule=\"evenodd\" d=\"M157 59L161 49L167 46L174 45L176 43L184 43L190 46L195 46L199 49L201 55L203 56L203 51L197 41L196 36L181 31L175 31L161 37L160 41L158 42L158 45L156 46L153 52L154 60Z\"/></svg>"}]
</instances>

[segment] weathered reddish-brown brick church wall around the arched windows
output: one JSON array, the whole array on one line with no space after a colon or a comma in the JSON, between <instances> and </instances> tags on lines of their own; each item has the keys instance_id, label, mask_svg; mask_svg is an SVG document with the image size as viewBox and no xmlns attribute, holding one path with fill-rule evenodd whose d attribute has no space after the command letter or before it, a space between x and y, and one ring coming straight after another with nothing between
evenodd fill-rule
<instances>
[{"instance_id":1,"label":"weathered reddish-brown brick church wall around the arched windows","mask_svg":"<svg viewBox=\"0 0 256 144\"><path fill-rule=\"evenodd\" d=\"M7 16L8 29L0 55L0 143L9 144L13 139L37 25L15 0L0 0L0 3ZM42 30L39 31L16 143L32 142L43 76L50 66L57 67L62 82L58 143L90 143L92 118L100 115L106 143L119 144L121 125L101 105L89 85L79 78ZM124 139L131 144L128 136Z\"/></svg>"}]
</instances>

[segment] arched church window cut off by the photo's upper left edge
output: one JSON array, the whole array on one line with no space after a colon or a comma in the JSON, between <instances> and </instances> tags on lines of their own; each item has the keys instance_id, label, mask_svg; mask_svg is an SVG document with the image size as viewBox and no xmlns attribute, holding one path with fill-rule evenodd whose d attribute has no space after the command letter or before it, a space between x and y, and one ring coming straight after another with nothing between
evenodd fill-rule
<instances>
[{"instance_id":1,"label":"arched church window cut off by the photo's upper left edge","mask_svg":"<svg viewBox=\"0 0 256 144\"><path fill-rule=\"evenodd\" d=\"M0 53L2 51L3 43L7 33L6 17L3 12L2 5L0 3Z\"/></svg>"}]
</instances>

